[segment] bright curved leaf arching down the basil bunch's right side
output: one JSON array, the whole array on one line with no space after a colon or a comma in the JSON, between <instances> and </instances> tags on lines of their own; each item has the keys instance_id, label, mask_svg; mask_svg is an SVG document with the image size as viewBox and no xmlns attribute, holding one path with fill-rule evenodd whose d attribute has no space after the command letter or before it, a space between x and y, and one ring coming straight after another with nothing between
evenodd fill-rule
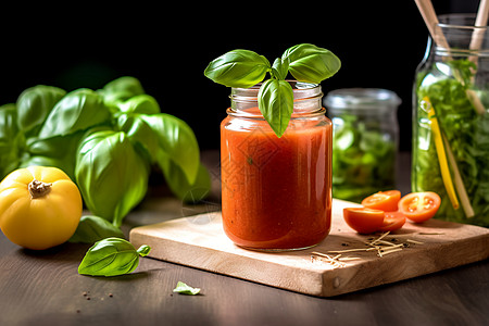
<instances>
[{"instance_id":1,"label":"bright curved leaf arching down the basil bunch's right side","mask_svg":"<svg viewBox=\"0 0 489 326\"><path fill-rule=\"evenodd\" d=\"M154 130L159 151L158 156L166 155L193 184L199 172L200 151L193 130L184 121L166 114L141 115L141 118Z\"/></svg>"}]
</instances>

